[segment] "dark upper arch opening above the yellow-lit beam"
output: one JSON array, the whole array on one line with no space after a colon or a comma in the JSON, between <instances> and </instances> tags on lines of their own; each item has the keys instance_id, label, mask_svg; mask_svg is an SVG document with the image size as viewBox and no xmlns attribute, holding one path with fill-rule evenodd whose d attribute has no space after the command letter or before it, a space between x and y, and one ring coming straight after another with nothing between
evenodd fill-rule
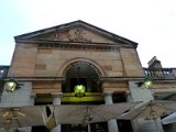
<instances>
[{"instance_id":1,"label":"dark upper arch opening above the yellow-lit beam","mask_svg":"<svg viewBox=\"0 0 176 132\"><path fill-rule=\"evenodd\" d=\"M101 74L90 63L84 61L74 62L65 68L64 76L66 81L63 84L63 92L74 92L74 88L78 82L86 87L86 92L102 91L99 82Z\"/></svg>"}]
</instances>

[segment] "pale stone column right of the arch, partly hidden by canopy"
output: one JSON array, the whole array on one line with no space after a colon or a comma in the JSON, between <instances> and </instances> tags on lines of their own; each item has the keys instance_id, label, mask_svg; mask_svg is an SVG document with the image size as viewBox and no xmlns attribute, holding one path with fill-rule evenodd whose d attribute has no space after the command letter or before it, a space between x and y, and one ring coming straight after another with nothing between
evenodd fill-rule
<instances>
[{"instance_id":1,"label":"pale stone column right of the arch, partly hidden by canopy","mask_svg":"<svg viewBox=\"0 0 176 132\"><path fill-rule=\"evenodd\" d=\"M113 94L113 91L107 91L107 92L105 92L106 105L112 105L113 103L113 101L112 101L112 94ZM109 132L119 132L116 119L112 119L112 120L108 121L108 131Z\"/></svg>"}]
</instances>

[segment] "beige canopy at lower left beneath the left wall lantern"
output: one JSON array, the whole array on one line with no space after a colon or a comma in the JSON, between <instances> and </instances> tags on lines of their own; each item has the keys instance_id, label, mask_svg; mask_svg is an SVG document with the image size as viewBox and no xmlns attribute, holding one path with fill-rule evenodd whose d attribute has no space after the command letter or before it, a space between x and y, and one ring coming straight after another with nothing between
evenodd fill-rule
<instances>
[{"instance_id":1,"label":"beige canopy at lower left beneath the left wall lantern","mask_svg":"<svg viewBox=\"0 0 176 132\"><path fill-rule=\"evenodd\" d=\"M0 128L44 125L44 106L0 108Z\"/></svg>"}]
</instances>

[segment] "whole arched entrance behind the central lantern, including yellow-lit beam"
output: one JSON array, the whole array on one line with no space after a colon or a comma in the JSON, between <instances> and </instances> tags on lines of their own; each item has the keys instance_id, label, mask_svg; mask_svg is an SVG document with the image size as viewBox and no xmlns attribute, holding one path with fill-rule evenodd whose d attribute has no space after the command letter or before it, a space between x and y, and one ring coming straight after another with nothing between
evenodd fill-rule
<instances>
[{"instance_id":1,"label":"whole arched entrance behind the central lantern, including yellow-lit beam","mask_svg":"<svg viewBox=\"0 0 176 132\"><path fill-rule=\"evenodd\" d=\"M63 105L102 105L105 98L102 96L102 87L99 81L101 77L100 70L92 64L85 61L77 61L66 66L63 76L65 82L63 82L62 91ZM78 81L86 87L85 97L75 97L74 89ZM107 122L91 123L90 129L92 132L101 131L107 132ZM63 132L88 132L87 125L73 125L63 124Z\"/></svg>"}]
</instances>

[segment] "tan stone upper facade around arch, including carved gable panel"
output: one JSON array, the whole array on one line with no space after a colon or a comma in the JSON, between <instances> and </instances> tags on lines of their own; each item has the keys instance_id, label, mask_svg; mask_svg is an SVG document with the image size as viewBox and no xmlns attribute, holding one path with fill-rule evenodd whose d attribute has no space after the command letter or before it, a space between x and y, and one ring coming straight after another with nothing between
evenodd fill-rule
<instances>
[{"instance_id":1,"label":"tan stone upper facade around arch, including carved gable panel","mask_svg":"<svg viewBox=\"0 0 176 132\"><path fill-rule=\"evenodd\" d=\"M73 28L36 35L33 38L47 40L48 43L16 41L9 76L63 76L63 66L76 58L89 59L92 65L99 65L107 77L143 76L135 46L113 40L107 32L94 31L91 28ZM50 45L50 41L58 41L54 44L57 46ZM41 44L47 46L42 47ZM63 46L58 47L62 44Z\"/></svg>"}]
</instances>

